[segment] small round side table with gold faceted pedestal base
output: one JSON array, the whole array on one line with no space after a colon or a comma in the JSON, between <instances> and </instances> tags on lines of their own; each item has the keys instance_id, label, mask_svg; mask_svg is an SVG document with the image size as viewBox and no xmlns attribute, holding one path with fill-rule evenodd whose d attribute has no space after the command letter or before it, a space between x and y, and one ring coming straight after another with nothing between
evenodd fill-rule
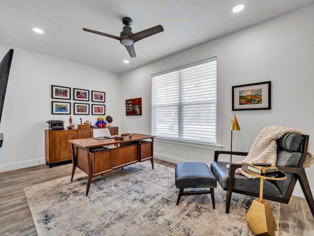
<instances>
[{"instance_id":1,"label":"small round side table with gold faceted pedestal base","mask_svg":"<svg viewBox=\"0 0 314 236\"><path fill-rule=\"evenodd\" d=\"M263 200L263 185L264 179L270 180L283 180L287 178L287 175L278 171L277 175L260 175L256 172L250 171L247 165L243 165L241 168L249 175L259 177L260 183L260 198L254 199L250 209L248 210L245 220L250 226L254 235L274 236L276 230L276 222L274 215L271 211L269 203Z\"/></svg>"}]
</instances>

